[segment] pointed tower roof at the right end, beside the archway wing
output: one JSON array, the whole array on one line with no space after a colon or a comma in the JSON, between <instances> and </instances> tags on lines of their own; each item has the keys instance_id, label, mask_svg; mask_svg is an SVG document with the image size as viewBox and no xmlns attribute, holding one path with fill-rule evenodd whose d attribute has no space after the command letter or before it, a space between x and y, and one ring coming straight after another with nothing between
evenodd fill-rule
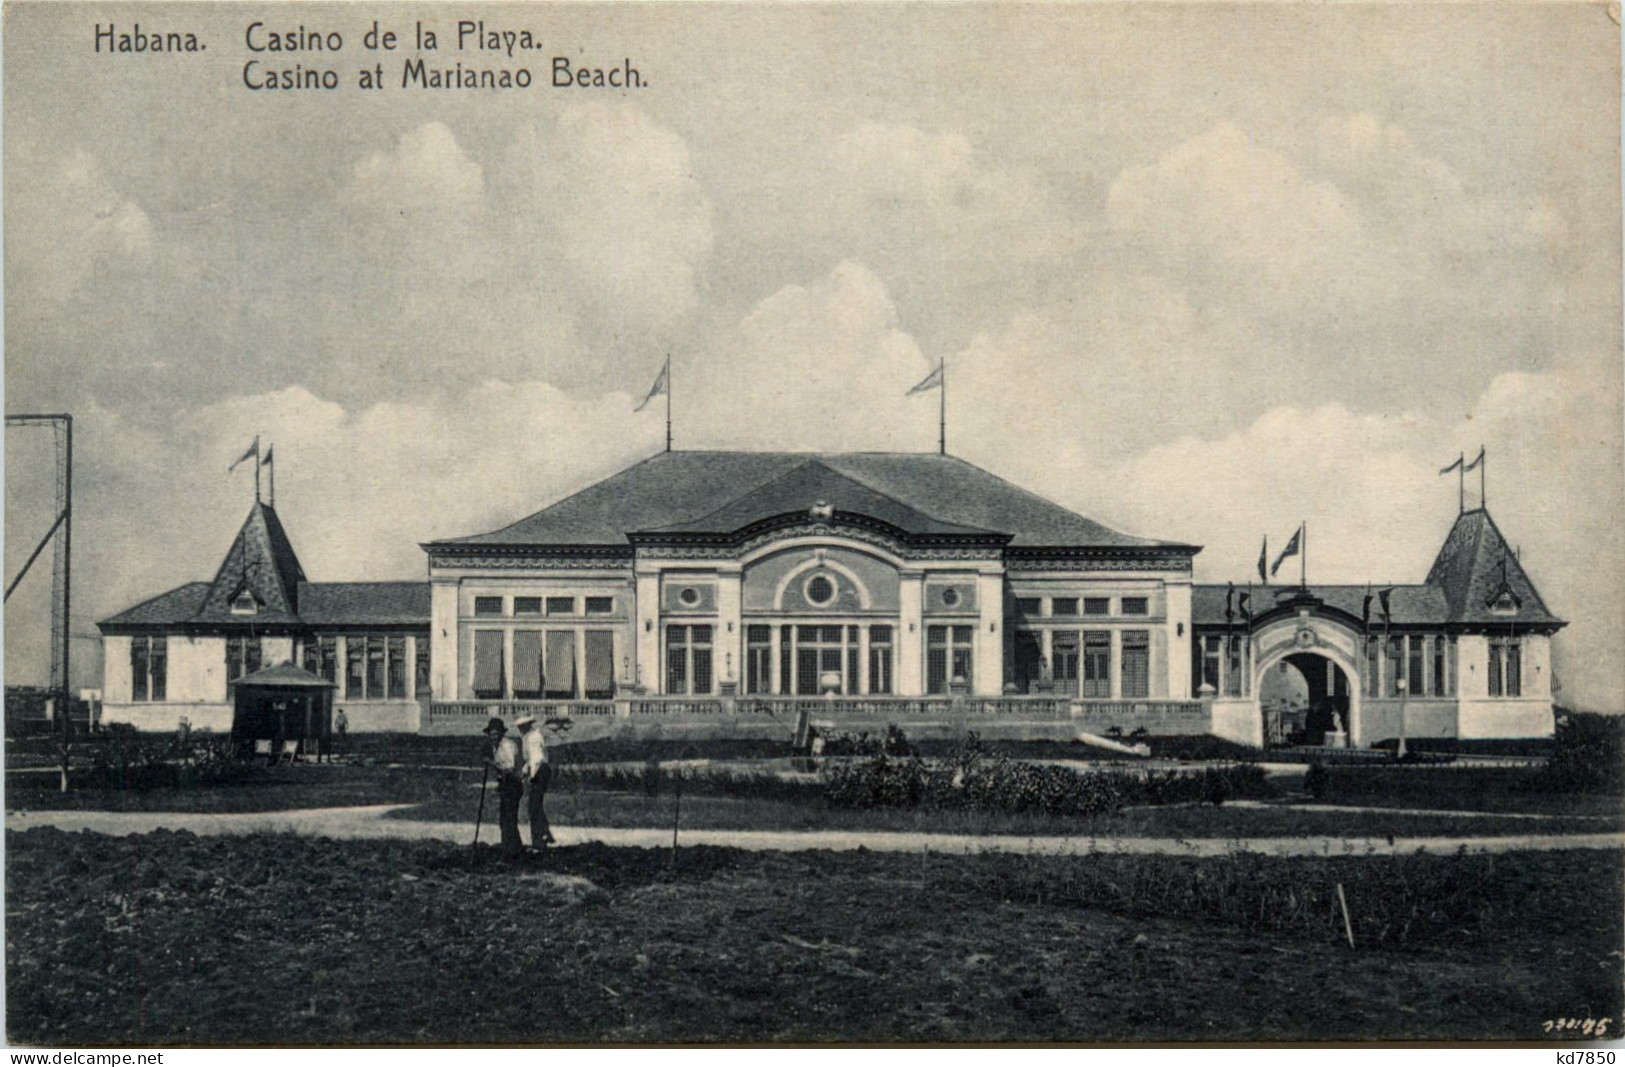
<instances>
[{"instance_id":1,"label":"pointed tower roof at the right end, beside the archway wing","mask_svg":"<svg viewBox=\"0 0 1625 1067\"><path fill-rule=\"evenodd\" d=\"M1451 622L1558 622L1485 508L1456 518L1427 580L1445 591ZM1497 604L1503 593L1514 609Z\"/></svg>"}]
</instances>

